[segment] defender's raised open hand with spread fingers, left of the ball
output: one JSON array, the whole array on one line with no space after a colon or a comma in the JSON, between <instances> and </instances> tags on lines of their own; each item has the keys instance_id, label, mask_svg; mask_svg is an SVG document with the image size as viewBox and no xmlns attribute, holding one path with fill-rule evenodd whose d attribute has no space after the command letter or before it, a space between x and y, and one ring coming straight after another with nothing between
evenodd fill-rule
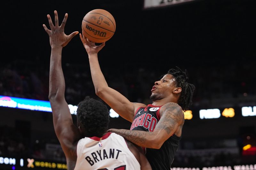
<instances>
[{"instance_id":1,"label":"defender's raised open hand with spread fingers, left of the ball","mask_svg":"<svg viewBox=\"0 0 256 170\"><path fill-rule=\"evenodd\" d=\"M57 11L54 11L54 15L55 15L55 26L52 23L52 18L50 17L50 15L47 15L47 18L49 20L49 25L51 30L49 30L44 24L44 30L46 31L46 33L48 33L49 37L50 37L50 45L52 48L54 47L65 47L68 42L76 35L78 34L78 31L75 31L69 35L66 35L64 33L64 27L66 25L66 21L68 18L68 14L65 14L65 17L61 23L61 25L59 26L59 18L58 18L58 13Z\"/></svg>"}]
</instances>

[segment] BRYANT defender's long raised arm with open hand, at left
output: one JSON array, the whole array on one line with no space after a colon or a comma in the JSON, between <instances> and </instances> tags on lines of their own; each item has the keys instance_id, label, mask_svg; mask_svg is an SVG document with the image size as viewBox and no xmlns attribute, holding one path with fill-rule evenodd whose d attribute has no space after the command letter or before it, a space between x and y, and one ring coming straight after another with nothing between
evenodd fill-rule
<instances>
[{"instance_id":1,"label":"BRYANT defender's long raised arm with open hand, at left","mask_svg":"<svg viewBox=\"0 0 256 170\"><path fill-rule=\"evenodd\" d=\"M79 130L75 127L68 108L68 104L64 98L65 80L61 68L61 52L68 42L78 33L73 32L70 35L64 33L64 26L68 18L65 14L61 26L59 26L57 11L54 11L55 26L52 23L50 15L47 15L51 30L43 25L44 30L50 38L52 47L50 59L50 79L49 79L49 100L52 107L53 125L55 133L60 141L61 147L66 155L69 168L73 168L76 161L76 145L80 137Z\"/></svg>"}]
</instances>

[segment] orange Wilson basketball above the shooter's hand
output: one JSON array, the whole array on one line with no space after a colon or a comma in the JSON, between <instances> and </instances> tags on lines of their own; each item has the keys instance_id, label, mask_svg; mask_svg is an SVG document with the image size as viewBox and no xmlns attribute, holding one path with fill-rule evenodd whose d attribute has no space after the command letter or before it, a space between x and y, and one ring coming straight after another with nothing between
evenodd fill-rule
<instances>
[{"instance_id":1,"label":"orange Wilson basketball above the shooter's hand","mask_svg":"<svg viewBox=\"0 0 256 170\"><path fill-rule=\"evenodd\" d=\"M106 10L95 9L88 12L82 21L83 35L90 41L108 41L116 31L116 21Z\"/></svg>"}]
</instances>

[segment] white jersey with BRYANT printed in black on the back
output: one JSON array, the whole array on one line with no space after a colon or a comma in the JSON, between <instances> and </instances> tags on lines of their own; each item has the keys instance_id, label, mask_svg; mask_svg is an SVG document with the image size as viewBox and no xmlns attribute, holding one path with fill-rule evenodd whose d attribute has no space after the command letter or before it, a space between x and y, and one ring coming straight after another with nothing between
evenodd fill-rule
<instances>
[{"instance_id":1,"label":"white jersey with BRYANT printed in black on the back","mask_svg":"<svg viewBox=\"0 0 256 170\"><path fill-rule=\"evenodd\" d=\"M140 164L124 137L108 132L103 137L85 137L77 143L75 170L139 170Z\"/></svg>"}]
</instances>

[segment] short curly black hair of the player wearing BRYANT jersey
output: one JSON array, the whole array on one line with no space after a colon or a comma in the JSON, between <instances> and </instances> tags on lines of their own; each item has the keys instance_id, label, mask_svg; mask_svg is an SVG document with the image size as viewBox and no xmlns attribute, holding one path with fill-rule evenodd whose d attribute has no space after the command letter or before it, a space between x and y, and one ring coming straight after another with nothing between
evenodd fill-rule
<instances>
[{"instance_id":1,"label":"short curly black hair of the player wearing BRYANT jersey","mask_svg":"<svg viewBox=\"0 0 256 170\"><path fill-rule=\"evenodd\" d=\"M86 96L78 104L77 121L86 131L86 137L101 137L108 130L109 112L102 102Z\"/></svg>"}]
</instances>

